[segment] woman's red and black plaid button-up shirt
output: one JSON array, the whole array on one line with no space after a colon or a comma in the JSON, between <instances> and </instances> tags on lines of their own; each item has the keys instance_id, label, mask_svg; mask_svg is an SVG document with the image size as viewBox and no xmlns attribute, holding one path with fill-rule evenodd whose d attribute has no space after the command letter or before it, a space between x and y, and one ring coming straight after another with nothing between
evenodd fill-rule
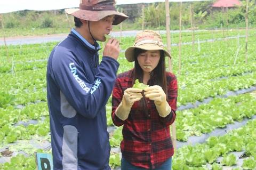
<instances>
[{"instance_id":1,"label":"woman's red and black plaid button-up shirt","mask_svg":"<svg viewBox=\"0 0 256 170\"><path fill-rule=\"evenodd\" d=\"M131 75L132 70L118 75L116 79L112 98L112 120L116 126L124 125L122 156L134 166L156 168L172 157L174 152L169 126L176 117L177 79L170 72L166 72L168 103L172 108L168 116L160 117L154 101L146 98L147 109L139 108L140 101L135 102L129 117L123 121L115 115L115 111L122 101L126 88L132 87Z\"/></svg>"}]
</instances>

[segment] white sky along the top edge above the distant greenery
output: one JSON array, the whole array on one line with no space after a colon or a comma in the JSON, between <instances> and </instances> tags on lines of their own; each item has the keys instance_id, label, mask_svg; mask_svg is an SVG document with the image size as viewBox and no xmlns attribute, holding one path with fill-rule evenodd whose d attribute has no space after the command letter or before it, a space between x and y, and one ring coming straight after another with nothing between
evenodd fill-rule
<instances>
[{"instance_id":1,"label":"white sky along the top edge above the distant greenery","mask_svg":"<svg viewBox=\"0 0 256 170\"><path fill-rule=\"evenodd\" d=\"M209 0L169 0L169 2L209 1ZM117 5L165 2L165 0L116 0ZM58 10L78 7L80 0L0 0L0 14L22 10Z\"/></svg>"}]
</instances>

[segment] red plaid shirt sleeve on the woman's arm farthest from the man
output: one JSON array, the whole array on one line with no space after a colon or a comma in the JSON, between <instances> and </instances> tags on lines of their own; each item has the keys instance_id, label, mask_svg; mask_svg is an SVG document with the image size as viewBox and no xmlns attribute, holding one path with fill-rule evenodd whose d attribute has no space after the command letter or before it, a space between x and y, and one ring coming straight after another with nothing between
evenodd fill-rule
<instances>
[{"instance_id":1,"label":"red plaid shirt sleeve on the woman's arm farthest from the man","mask_svg":"<svg viewBox=\"0 0 256 170\"><path fill-rule=\"evenodd\" d=\"M171 125L176 118L176 109L177 109L177 96L178 96L178 83L177 78L173 75L171 77L171 82L167 83L167 96L168 103L171 106L171 112L166 117L158 116L160 121L166 126Z\"/></svg>"}]
</instances>

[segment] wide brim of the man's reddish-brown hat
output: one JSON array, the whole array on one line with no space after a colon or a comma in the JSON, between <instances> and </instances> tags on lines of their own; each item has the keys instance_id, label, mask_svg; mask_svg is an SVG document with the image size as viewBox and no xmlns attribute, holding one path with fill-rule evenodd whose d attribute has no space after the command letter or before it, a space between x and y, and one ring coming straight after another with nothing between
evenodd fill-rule
<instances>
[{"instance_id":1,"label":"wide brim of the man's reddish-brown hat","mask_svg":"<svg viewBox=\"0 0 256 170\"><path fill-rule=\"evenodd\" d=\"M115 15L113 25L118 25L128 18L124 13L117 11L88 11L80 9L66 9L65 12L67 14L73 15L76 18L86 21L99 21L109 15Z\"/></svg>"}]
</instances>

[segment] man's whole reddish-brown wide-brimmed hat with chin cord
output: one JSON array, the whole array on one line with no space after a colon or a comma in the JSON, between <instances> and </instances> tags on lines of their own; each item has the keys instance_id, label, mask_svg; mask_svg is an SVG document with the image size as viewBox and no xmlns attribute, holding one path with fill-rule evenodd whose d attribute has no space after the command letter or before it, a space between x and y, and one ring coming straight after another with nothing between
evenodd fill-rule
<instances>
[{"instance_id":1,"label":"man's whole reddish-brown wide-brimmed hat with chin cord","mask_svg":"<svg viewBox=\"0 0 256 170\"><path fill-rule=\"evenodd\" d=\"M65 12L86 21L99 21L109 15L115 15L113 25L118 25L127 17L116 11L114 0L80 0L79 9L66 9Z\"/></svg>"}]
</instances>

